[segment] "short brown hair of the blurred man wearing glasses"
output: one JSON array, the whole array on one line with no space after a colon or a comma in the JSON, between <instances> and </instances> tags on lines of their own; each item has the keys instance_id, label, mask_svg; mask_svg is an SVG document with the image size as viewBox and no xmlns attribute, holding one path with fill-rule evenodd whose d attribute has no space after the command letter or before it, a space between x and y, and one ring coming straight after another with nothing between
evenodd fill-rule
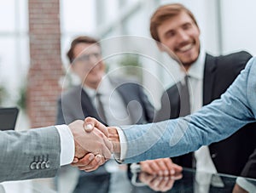
<instances>
[{"instance_id":1,"label":"short brown hair of the blurred man wearing glasses","mask_svg":"<svg viewBox=\"0 0 256 193\"><path fill-rule=\"evenodd\" d=\"M72 63L74 60L73 49L79 43L91 43L91 44L96 43L96 45L101 47L99 41L94 37L87 37L87 36L76 37L75 39L73 39L71 46L67 52L67 58L69 59L70 63Z\"/></svg>"}]
</instances>

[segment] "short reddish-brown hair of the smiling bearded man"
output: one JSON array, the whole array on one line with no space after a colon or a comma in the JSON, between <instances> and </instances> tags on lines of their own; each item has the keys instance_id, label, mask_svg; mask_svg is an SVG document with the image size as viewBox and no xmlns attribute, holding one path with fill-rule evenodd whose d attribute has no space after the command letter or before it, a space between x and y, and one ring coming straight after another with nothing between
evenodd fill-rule
<instances>
[{"instance_id":1,"label":"short reddish-brown hair of the smiling bearded man","mask_svg":"<svg viewBox=\"0 0 256 193\"><path fill-rule=\"evenodd\" d=\"M158 36L157 28L166 20L176 16L177 14L180 14L181 12L185 12L189 14L191 19L195 22L195 25L198 27L197 22L195 20L194 14L183 6L183 4L180 3L172 3L172 4L166 4L163 6L160 6L154 14L151 17L150 20L150 34L151 37L154 38L154 40L160 42L160 38Z\"/></svg>"}]
</instances>

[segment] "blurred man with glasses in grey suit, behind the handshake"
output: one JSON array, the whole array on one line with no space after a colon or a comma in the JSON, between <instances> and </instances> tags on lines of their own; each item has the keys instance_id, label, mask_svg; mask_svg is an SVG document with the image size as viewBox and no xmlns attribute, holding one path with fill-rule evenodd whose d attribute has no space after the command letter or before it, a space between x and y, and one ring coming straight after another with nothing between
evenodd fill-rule
<instances>
[{"instance_id":1,"label":"blurred man with glasses in grey suit, behind the handshake","mask_svg":"<svg viewBox=\"0 0 256 193\"><path fill-rule=\"evenodd\" d=\"M101 46L95 38L75 38L67 56L71 69L81 80L81 85L61 94L58 100L58 124L84 119L87 116L96 117L106 125L153 121L154 108L143 93L143 88L134 81L106 74ZM93 173L81 172L75 192L108 192L112 188L109 187L110 180L126 178L108 173L106 168L108 169L109 164ZM117 163L113 164L114 167L119 167Z\"/></svg>"}]
</instances>

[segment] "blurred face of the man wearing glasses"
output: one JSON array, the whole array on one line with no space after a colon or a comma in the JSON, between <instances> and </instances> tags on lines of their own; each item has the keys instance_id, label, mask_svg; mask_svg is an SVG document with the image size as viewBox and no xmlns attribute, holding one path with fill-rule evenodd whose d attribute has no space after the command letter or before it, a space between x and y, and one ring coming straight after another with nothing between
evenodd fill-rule
<instances>
[{"instance_id":1,"label":"blurred face of the man wearing glasses","mask_svg":"<svg viewBox=\"0 0 256 193\"><path fill-rule=\"evenodd\" d=\"M101 48L96 44L79 43L73 49L73 54L73 71L85 85L96 88L105 72Z\"/></svg>"}]
</instances>

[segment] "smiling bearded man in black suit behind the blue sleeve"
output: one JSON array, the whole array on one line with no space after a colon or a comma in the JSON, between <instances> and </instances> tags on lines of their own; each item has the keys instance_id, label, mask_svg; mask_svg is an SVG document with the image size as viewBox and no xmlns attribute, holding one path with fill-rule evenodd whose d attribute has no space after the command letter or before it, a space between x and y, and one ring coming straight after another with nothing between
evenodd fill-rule
<instances>
[{"instance_id":1,"label":"smiling bearded man in black suit behind the blue sleeve","mask_svg":"<svg viewBox=\"0 0 256 193\"><path fill-rule=\"evenodd\" d=\"M189 115L218 99L251 58L243 51L218 57L207 54L200 42L201 31L195 16L179 3L157 9L150 20L150 32L162 51L177 56L183 74L183 78L162 95L154 122ZM187 86L186 92L183 92L184 86ZM251 123L230 138L203 146L194 153L172 157L172 161L141 162L140 166L143 171L160 175L168 174L172 162L208 173L240 175L255 148L255 128L256 124Z\"/></svg>"}]
</instances>

